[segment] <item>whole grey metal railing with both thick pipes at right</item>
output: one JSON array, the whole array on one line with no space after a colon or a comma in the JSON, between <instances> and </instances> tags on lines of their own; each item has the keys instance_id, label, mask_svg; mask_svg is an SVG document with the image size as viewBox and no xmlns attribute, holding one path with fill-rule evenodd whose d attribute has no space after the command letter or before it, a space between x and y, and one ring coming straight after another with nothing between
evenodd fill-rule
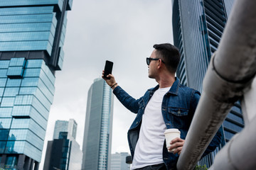
<instances>
[{"instance_id":1,"label":"whole grey metal railing with both thick pipes at right","mask_svg":"<svg viewBox=\"0 0 256 170\"><path fill-rule=\"evenodd\" d=\"M256 1L235 1L203 80L203 93L178 159L179 170L193 169L238 98L242 99L245 128L218 152L210 169L256 166L255 8Z\"/></svg>"}]
</instances>

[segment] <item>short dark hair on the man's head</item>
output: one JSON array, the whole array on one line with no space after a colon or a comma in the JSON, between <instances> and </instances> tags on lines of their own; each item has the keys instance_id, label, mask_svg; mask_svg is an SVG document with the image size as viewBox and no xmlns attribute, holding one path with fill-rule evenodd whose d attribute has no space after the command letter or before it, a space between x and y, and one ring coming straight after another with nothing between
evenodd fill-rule
<instances>
[{"instance_id":1,"label":"short dark hair on the man's head","mask_svg":"<svg viewBox=\"0 0 256 170\"><path fill-rule=\"evenodd\" d=\"M157 57L164 60L169 72L175 73L181 58L178 48L170 43L156 44L153 47L156 49Z\"/></svg>"}]
</instances>

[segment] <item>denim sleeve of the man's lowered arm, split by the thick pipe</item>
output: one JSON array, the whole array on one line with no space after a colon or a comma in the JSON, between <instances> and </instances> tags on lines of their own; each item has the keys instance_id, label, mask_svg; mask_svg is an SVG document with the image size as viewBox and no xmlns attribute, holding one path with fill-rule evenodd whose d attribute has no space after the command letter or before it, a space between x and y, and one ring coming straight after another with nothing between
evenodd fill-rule
<instances>
[{"instance_id":1,"label":"denim sleeve of the man's lowered arm, split by the thick pipe","mask_svg":"<svg viewBox=\"0 0 256 170\"><path fill-rule=\"evenodd\" d=\"M196 106L198 105L198 101L200 98L200 93L198 91L195 91L193 98L192 98L192 111L195 112L196 111ZM206 156L206 154L209 154L210 152L213 152L215 150L216 147L220 146L220 142L222 140L222 126L220 126L218 132L216 132L215 136L213 137L213 140L211 140L210 144L208 145L208 147L206 148L206 151L203 153L203 156L201 158L203 158L204 156Z\"/></svg>"}]
</instances>

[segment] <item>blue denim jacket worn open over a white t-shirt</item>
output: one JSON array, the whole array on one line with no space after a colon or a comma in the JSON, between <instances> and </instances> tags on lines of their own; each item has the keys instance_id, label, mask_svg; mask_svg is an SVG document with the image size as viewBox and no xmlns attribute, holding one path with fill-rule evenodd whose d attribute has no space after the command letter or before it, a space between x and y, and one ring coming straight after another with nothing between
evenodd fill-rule
<instances>
[{"instance_id":1,"label":"blue denim jacket worn open over a white t-shirt","mask_svg":"<svg viewBox=\"0 0 256 170\"><path fill-rule=\"evenodd\" d=\"M129 96L129 94L127 94L127 92L124 91L120 86L117 86L113 91L114 95L117 96L119 101L126 108L128 108L129 111L137 113L137 117L128 131L129 149L131 151L132 158L134 157L134 149L139 139L142 115L144 114L146 104L149 102L149 99L157 89L159 89L159 85L146 91L144 96L137 100L132 98L132 96ZM186 138L188 128L191 125L191 120L193 118L193 114L195 113L199 98L199 91L181 85L178 78L176 78L176 81L174 81L171 89L164 95L161 107L164 123L166 124L167 129L177 128L180 130L181 139ZM220 140L221 133L218 132L213 138L212 142L210 142L210 145L206 149L203 156L213 152L215 147L220 144ZM176 169L178 154L168 152L166 149L166 142L163 144L163 159L168 169Z\"/></svg>"}]
</instances>

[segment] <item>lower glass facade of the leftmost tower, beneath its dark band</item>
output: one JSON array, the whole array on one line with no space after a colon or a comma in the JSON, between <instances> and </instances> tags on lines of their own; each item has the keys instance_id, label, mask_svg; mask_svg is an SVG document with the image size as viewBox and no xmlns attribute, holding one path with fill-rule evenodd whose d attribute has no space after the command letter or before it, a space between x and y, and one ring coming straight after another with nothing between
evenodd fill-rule
<instances>
[{"instance_id":1,"label":"lower glass facade of the leftmost tower, beneath its dark band","mask_svg":"<svg viewBox=\"0 0 256 170\"><path fill-rule=\"evenodd\" d=\"M1 112L0 118L3 132L0 140L6 145L2 145L0 154L26 154L40 162L55 78L53 74L51 78L46 74L50 70L43 60L33 61L37 62L37 68L33 66L33 69L28 64L30 61L11 58L9 67L5 68L6 75L1 74L1 81L5 79L6 85L1 86L4 92L1 94L0 106L4 112ZM23 75L20 65L23 65ZM10 68L13 72L8 74ZM11 79L16 76L21 79ZM39 79L41 84L38 83Z\"/></svg>"}]
</instances>

